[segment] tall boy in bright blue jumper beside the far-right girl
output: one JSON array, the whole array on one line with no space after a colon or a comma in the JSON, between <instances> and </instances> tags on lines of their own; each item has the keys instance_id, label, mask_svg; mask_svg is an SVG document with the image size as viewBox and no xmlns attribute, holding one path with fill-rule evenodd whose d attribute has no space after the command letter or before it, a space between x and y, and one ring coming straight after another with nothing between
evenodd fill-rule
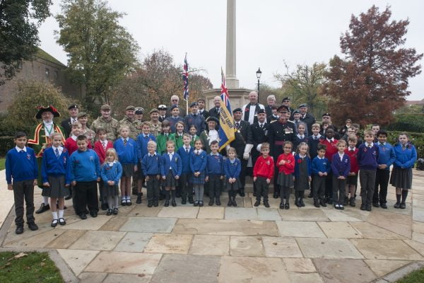
<instances>
[{"instance_id":1,"label":"tall boy in bright blue jumper beside the far-right girl","mask_svg":"<svg viewBox=\"0 0 424 283\"><path fill-rule=\"evenodd\" d=\"M375 128L375 125L372 125ZM372 197L372 205L374 207L382 207L387 209L387 186L389 185L390 166L396 159L394 148L387 142L387 132L380 129L377 132L378 168L375 173L374 197ZM379 188L379 190L378 190Z\"/></svg>"}]
</instances>

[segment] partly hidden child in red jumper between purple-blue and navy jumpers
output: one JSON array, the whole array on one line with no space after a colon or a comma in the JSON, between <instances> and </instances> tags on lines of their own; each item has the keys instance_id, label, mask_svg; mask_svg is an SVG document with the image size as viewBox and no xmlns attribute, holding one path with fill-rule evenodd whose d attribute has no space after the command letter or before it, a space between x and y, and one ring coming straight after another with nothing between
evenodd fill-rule
<instances>
[{"instance_id":1,"label":"partly hidden child in red jumper between purple-blue and navy jumpers","mask_svg":"<svg viewBox=\"0 0 424 283\"><path fill-rule=\"evenodd\" d=\"M355 207L355 194L356 187L358 186L358 172L359 165L358 159L356 156L358 155L358 149L356 148L356 143L358 142L358 138L355 135L351 134L348 136L348 144L349 146L345 149L345 154L347 154L351 158L351 172L349 172L348 180L346 183L346 197L344 205L351 205L351 207ZM351 192L351 197L349 198L349 192Z\"/></svg>"}]
</instances>

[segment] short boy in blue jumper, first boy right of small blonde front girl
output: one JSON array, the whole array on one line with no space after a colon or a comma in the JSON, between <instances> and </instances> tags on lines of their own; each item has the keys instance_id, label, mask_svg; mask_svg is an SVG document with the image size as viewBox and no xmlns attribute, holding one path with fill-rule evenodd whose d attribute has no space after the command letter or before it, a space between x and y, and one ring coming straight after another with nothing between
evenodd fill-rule
<instances>
[{"instance_id":1,"label":"short boy in blue jumper, first boy right of small blonde front girl","mask_svg":"<svg viewBox=\"0 0 424 283\"><path fill-rule=\"evenodd\" d=\"M141 161L143 175L146 176L147 185L147 207L158 207L159 185L160 185L160 162L162 158L156 153L156 142L148 141L148 154Z\"/></svg>"}]
</instances>

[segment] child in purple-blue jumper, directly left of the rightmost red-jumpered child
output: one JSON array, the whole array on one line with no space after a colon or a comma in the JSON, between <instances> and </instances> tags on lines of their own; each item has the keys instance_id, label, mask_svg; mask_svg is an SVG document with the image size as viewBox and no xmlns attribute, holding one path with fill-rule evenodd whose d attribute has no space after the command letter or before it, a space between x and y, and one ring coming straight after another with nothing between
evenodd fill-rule
<instances>
[{"instance_id":1,"label":"child in purple-blue jumper, directly left of the rightmost red-jumpered child","mask_svg":"<svg viewBox=\"0 0 424 283\"><path fill-rule=\"evenodd\" d=\"M346 192L346 179L351 171L351 158L345 154L346 141L341 139L337 142L336 154L331 160L333 171L333 201L336 209L344 209L344 196Z\"/></svg>"}]
</instances>

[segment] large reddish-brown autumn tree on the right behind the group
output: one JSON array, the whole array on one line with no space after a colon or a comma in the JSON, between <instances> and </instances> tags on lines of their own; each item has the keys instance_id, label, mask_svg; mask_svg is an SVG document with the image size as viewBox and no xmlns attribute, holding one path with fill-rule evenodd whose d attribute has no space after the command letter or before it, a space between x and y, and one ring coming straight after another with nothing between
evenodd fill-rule
<instances>
[{"instance_id":1,"label":"large reddish-brown autumn tree on the right behind the group","mask_svg":"<svg viewBox=\"0 0 424 283\"><path fill-rule=\"evenodd\" d=\"M335 120L388 124L410 94L408 79L420 74L417 62L423 54L404 47L409 21L390 17L389 7L380 12L376 6L351 16L340 38L344 58L330 60L324 89Z\"/></svg>"}]
</instances>

